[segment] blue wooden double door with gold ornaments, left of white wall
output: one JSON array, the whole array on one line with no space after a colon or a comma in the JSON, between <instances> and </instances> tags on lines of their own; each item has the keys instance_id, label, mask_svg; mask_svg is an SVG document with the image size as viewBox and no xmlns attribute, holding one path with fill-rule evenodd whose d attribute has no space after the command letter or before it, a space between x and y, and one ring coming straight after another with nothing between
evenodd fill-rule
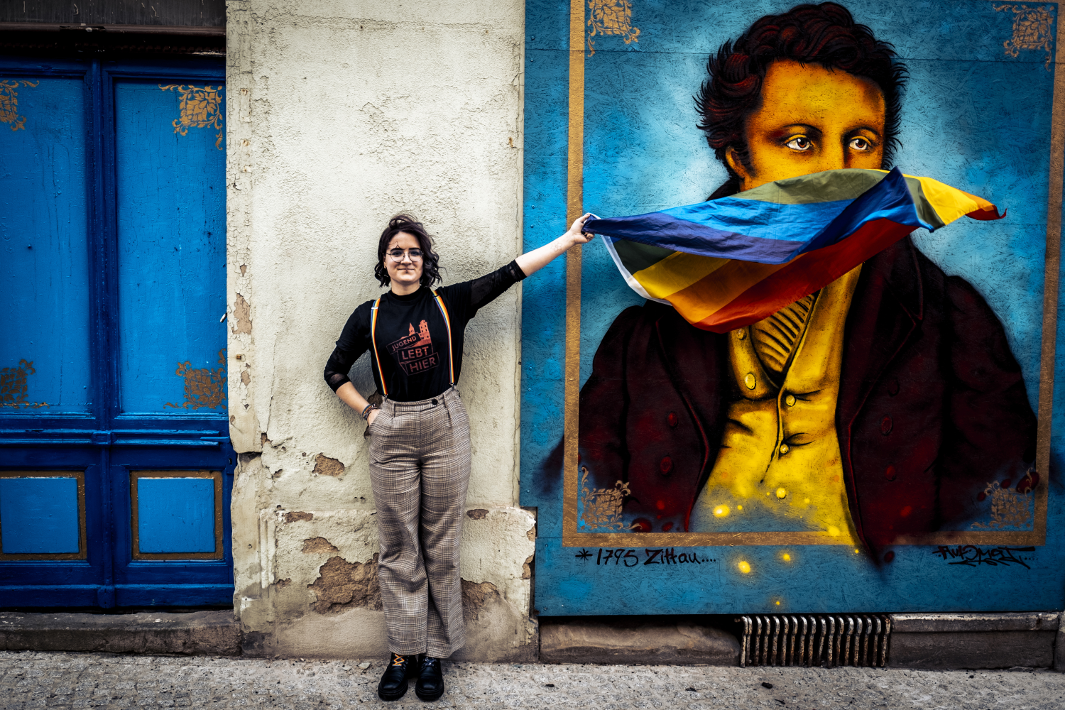
<instances>
[{"instance_id":1,"label":"blue wooden double door with gold ornaments, left of white wall","mask_svg":"<svg viewBox=\"0 0 1065 710\"><path fill-rule=\"evenodd\" d=\"M0 61L0 607L232 599L223 79Z\"/></svg>"}]
</instances>

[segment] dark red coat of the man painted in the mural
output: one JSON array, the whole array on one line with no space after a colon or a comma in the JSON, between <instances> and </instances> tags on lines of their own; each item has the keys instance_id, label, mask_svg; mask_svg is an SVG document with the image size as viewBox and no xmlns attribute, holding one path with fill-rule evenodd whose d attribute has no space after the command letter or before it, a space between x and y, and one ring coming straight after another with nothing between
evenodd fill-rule
<instances>
[{"instance_id":1,"label":"dark red coat of the man painted in the mural","mask_svg":"<svg viewBox=\"0 0 1065 710\"><path fill-rule=\"evenodd\" d=\"M654 531L687 529L736 394L730 373L726 336L651 301L623 311L580 391L580 465L594 485L627 481L626 511ZM836 428L873 554L986 508L987 483L1016 483L1034 459L1035 415L1001 323L908 237L862 269Z\"/></svg>"}]
</instances>

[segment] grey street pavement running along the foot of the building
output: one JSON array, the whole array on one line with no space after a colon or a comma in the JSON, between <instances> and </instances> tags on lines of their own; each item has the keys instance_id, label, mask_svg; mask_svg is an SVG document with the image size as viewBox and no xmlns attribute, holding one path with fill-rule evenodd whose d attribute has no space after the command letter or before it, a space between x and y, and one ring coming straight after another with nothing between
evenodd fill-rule
<instances>
[{"instance_id":1,"label":"grey street pavement running along the foot of the building","mask_svg":"<svg viewBox=\"0 0 1065 710\"><path fill-rule=\"evenodd\" d=\"M383 660L0 651L0 709L411 708L377 697ZM449 708L1065 707L1065 675L1050 671L882 671L665 665L445 664ZM411 683L413 686L413 683Z\"/></svg>"}]
</instances>

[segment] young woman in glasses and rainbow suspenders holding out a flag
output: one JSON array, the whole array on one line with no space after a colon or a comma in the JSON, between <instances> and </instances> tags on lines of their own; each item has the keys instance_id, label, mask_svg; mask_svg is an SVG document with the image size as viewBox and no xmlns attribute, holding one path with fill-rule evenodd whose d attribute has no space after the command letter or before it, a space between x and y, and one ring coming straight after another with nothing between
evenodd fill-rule
<instances>
[{"instance_id":1,"label":"young woman in glasses and rainbow suspenders holding out a flag","mask_svg":"<svg viewBox=\"0 0 1065 710\"><path fill-rule=\"evenodd\" d=\"M479 279L439 290L432 238L408 215L389 220L377 245L374 275L388 293L359 306L347 319L325 378L370 430L370 479L377 506L377 567L391 651L377 688L383 700L414 692L423 700L444 693L440 660L465 642L459 535L470 482L470 419L455 384L462 339L477 309L593 235L584 215L566 234ZM383 395L370 403L348 370L370 350L374 382Z\"/></svg>"}]
</instances>

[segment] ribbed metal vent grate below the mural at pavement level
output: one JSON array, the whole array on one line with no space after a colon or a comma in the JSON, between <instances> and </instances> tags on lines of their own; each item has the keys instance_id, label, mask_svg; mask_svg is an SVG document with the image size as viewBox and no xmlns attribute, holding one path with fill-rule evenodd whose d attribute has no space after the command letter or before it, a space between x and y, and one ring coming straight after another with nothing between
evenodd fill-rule
<instances>
[{"instance_id":1,"label":"ribbed metal vent grate below the mural at pavement level","mask_svg":"<svg viewBox=\"0 0 1065 710\"><path fill-rule=\"evenodd\" d=\"M743 624L739 664L887 665L887 614L755 614Z\"/></svg>"}]
</instances>

